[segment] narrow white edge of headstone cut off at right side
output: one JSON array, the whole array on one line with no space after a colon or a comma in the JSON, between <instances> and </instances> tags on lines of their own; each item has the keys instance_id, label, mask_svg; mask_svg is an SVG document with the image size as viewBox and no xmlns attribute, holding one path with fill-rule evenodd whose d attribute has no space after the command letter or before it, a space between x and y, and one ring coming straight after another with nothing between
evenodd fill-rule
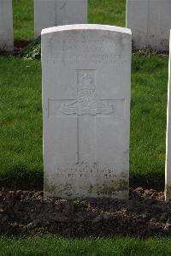
<instances>
[{"instance_id":1,"label":"narrow white edge of headstone cut off at right side","mask_svg":"<svg viewBox=\"0 0 171 256\"><path fill-rule=\"evenodd\" d=\"M171 199L171 36L168 64L168 110L166 134L166 163L165 163L165 199Z\"/></svg>"}]
</instances>

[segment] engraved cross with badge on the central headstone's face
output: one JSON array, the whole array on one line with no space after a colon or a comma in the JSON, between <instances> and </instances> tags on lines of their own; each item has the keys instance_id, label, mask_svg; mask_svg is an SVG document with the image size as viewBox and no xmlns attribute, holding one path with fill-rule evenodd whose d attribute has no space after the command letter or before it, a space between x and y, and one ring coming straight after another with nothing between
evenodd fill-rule
<instances>
[{"instance_id":1,"label":"engraved cross with badge on the central headstone's face","mask_svg":"<svg viewBox=\"0 0 171 256\"><path fill-rule=\"evenodd\" d=\"M76 70L77 97L58 105L58 113L77 116L78 164L96 163L96 116L112 115L114 106L96 95L96 70ZM50 115L49 115L50 116Z\"/></svg>"}]
</instances>

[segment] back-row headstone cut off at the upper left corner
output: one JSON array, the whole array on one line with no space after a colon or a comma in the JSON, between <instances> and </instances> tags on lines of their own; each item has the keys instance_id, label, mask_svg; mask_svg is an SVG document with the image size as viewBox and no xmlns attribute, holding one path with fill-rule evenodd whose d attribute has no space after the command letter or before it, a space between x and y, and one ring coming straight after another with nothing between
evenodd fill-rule
<instances>
[{"instance_id":1,"label":"back-row headstone cut off at the upper left corner","mask_svg":"<svg viewBox=\"0 0 171 256\"><path fill-rule=\"evenodd\" d=\"M14 51L12 0L0 0L0 51Z\"/></svg>"}]
</instances>

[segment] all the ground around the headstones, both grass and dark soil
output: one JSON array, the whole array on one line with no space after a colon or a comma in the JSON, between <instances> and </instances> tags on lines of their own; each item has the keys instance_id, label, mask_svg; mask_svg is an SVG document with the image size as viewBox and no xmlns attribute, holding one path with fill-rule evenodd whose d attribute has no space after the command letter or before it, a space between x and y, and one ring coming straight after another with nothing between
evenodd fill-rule
<instances>
[{"instance_id":1,"label":"all the ground around the headstones, both grass and dark soil","mask_svg":"<svg viewBox=\"0 0 171 256\"><path fill-rule=\"evenodd\" d=\"M170 254L169 238L78 239L171 235L171 207L163 196L168 56L133 53L130 200L44 201L40 46L19 54L33 39L32 6L32 1L14 1L17 49L13 57L0 57L0 235L46 236L3 237L0 255ZM124 27L124 16L125 1L90 1L91 23Z\"/></svg>"}]
</instances>

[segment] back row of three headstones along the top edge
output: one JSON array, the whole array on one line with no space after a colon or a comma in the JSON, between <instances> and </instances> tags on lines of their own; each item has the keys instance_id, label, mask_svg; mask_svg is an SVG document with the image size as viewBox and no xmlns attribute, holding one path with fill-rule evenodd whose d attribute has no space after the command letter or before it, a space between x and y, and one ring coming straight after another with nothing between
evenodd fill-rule
<instances>
[{"instance_id":1,"label":"back row of three headstones along the top edge","mask_svg":"<svg viewBox=\"0 0 171 256\"><path fill-rule=\"evenodd\" d=\"M34 0L35 38L45 27L87 23L87 0ZM168 51L170 0L127 0L127 27L133 47ZM0 0L0 49L13 51L12 0Z\"/></svg>"}]
</instances>

